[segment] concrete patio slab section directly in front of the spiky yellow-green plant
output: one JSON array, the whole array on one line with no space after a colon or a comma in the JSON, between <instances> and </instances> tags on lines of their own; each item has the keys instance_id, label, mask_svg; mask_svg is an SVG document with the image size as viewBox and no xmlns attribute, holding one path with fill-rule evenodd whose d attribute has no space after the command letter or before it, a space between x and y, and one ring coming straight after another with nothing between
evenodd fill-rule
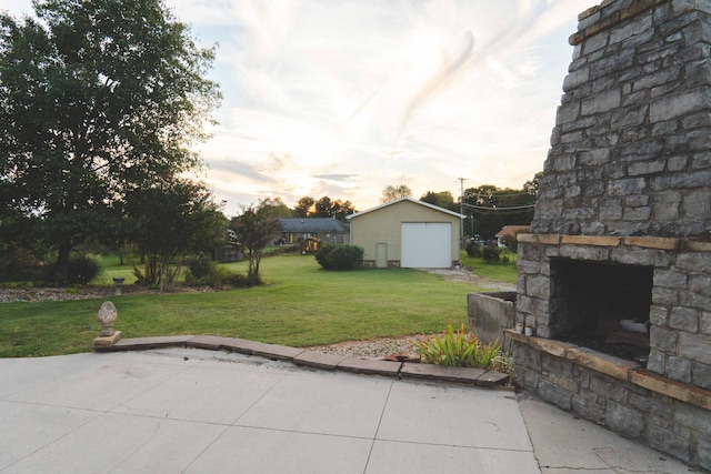
<instances>
[{"instance_id":1,"label":"concrete patio slab section directly in front of the spiky yellow-green plant","mask_svg":"<svg viewBox=\"0 0 711 474\"><path fill-rule=\"evenodd\" d=\"M512 393L424 382L393 385L378 438L532 451Z\"/></svg>"}]
</instances>

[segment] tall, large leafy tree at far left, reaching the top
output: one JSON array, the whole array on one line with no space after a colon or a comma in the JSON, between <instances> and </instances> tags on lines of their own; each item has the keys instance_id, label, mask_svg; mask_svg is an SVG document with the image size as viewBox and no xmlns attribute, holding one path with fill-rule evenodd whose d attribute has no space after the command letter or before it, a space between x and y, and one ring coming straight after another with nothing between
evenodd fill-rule
<instances>
[{"instance_id":1,"label":"tall, large leafy tree at far left, reaching the top","mask_svg":"<svg viewBox=\"0 0 711 474\"><path fill-rule=\"evenodd\" d=\"M220 99L212 49L160 0L37 0L0 13L0 195L42 221L66 283L72 248L124 196L199 167Z\"/></svg>"}]
</instances>

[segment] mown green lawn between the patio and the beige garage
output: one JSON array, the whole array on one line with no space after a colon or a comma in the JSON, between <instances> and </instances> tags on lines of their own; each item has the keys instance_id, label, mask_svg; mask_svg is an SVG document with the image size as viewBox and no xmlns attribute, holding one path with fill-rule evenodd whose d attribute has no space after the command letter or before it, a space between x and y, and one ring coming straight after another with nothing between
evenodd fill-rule
<instances>
[{"instance_id":1,"label":"mown green lawn between the patio and the beige garage","mask_svg":"<svg viewBox=\"0 0 711 474\"><path fill-rule=\"evenodd\" d=\"M130 276L130 265L117 260L103 279L118 274ZM310 255L264 259L262 275L268 284L248 290L112 297L114 327L124 337L212 334L308 346L459 326L467 293L485 290L409 269L324 271ZM91 351L102 302L0 304L0 356Z\"/></svg>"}]
</instances>

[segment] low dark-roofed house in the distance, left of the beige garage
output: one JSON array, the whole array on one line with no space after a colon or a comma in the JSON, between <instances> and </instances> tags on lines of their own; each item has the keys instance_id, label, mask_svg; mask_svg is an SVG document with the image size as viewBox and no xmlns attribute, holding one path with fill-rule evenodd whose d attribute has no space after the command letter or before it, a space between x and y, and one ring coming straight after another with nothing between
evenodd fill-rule
<instances>
[{"instance_id":1,"label":"low dark-roofed house in the distance, left of the beige garage","mask_svg":"<svg viewBox=\"0 0 711 474\"><path fill-rule=\"evenodd\" d=\"M276 240L280 243L320 240L347 244L350 242L350 225L332 218L280 218Z\"/></svg>"}]
</instances>

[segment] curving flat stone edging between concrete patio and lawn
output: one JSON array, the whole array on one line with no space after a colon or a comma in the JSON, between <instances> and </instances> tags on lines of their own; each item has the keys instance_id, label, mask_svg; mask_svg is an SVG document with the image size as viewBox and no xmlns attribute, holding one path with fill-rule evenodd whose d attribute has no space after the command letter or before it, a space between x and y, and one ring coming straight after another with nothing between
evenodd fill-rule
<instances>
[{"instance_id":1,"label":"curving flat stone edging between concrete patio and lawn","mask_svg":"<svg viewBox=\"0 0 711 474\"><path fill-rule=\"evenodd\" d=\"M502 389L510 377L497 371L470 367L444 367L408 362L390 362L326 354L308 349L266 344L237 337L212 335L177 335L163 337L122 339L112 345L97 345L97 352L141 351L160 347L191 347L211 351L230 351L264 359L291 362L313 369L346 371L359 374L384 375L397 379L424 379L463 383L478 387Z\"/></svg>"}]
</instances>

